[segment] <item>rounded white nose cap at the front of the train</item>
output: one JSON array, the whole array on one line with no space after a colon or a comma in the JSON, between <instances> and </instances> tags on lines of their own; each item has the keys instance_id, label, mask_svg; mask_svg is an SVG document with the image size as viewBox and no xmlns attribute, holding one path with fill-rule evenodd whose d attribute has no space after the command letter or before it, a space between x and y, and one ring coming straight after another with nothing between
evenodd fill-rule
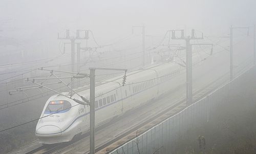
<instances>
[{"instance_id":1,"label":"rounded white nose cap at the front of the train","mask_svg":"<svg viewBox=\"0 0 256 154\"><path fill-rule=\"evenodd\" d=\"M41 126L36 130L37 135L54 135L54 136L60 136L61 135L61 129L54 125L45 125Z\"/></svg>"}]
</instances>

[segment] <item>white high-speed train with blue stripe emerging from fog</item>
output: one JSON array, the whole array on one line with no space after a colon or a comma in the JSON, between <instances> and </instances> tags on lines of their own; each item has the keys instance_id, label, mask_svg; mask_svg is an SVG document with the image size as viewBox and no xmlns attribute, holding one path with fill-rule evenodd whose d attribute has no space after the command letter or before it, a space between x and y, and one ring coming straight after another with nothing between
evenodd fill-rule
<instances>
[{"instance_id":1,"label":"white high-speed train with blue stripe emerging from fog","mask_svg":"<svg viewBox=\"0 0 256 154\"><path fill-rule=\"evenodd\" d=\"M202 55L193 55L194 67L204 61ZM123 75L102 81L102 84L95 87L95 126L105 124L114 117L160 97L176 86L170 80L184 72L184 61L179 59L131 71L126 74L124 86L120 86ZM185 79L185 75L182 76ZM182 81L184 83L185 80ZM69 93L62 94L70 97ZM78 94L90 98L90 89ZM78 95L73 95L72 98L81 100ZM75 135L90 131L90 106L78 104L59 94L47 100L40 118L35 134L44 144L68 142Z\"/></svg>"}]
</instances>

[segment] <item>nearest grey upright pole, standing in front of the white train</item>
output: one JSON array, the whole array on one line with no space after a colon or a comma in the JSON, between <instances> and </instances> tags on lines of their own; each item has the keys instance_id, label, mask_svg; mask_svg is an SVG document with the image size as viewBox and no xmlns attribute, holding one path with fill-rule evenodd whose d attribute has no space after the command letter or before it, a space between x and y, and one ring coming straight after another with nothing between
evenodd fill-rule
<instances>
[{"instance_id":1,"label":"nearest grey upright pole, standing in front of the white train","mask_svg":"<svg viewBox=\"0 0 256 154\"><path fill-rule=\"evenodd\" d=\"M95 69L90 69L90 154L95 153Z\"/></svg>"}]
</instances>

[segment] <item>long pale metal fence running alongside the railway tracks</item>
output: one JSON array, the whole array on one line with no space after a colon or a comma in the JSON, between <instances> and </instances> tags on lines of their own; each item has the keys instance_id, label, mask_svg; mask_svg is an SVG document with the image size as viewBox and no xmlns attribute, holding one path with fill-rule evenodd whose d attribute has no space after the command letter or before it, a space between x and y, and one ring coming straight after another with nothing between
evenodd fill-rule
<instances>
[{"instance_id":1,"label":"long pale metal fence running alongside the railway tracks","mask_svg":"<svg viewBox=\"0 0 256 154\"><path fill-rule=\"evenodd\" d=\"M252 68L244 71L232 81L222 85L214 92L183 109L178 114L166 119L142 135L113 150L112 154L137 153L173 153L178 139L185 139L190 128L202 126L216 113L217 106L225 102L230 90L238 87L244 75Z\"/></svg>"}]
</instances>

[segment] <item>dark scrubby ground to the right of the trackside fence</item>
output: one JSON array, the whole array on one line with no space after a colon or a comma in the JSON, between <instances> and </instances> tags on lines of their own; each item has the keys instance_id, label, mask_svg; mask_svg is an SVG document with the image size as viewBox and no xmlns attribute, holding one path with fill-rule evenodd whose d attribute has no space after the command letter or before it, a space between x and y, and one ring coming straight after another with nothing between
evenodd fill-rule
<instances>
[{"instance_id":1,"label":"dark scrubby ground to the right of the trackside fence","mask_svg":"<svg viewBox=\"0 0 256 154\"><path fill-rule=\"evenodd\" d=\"M177 142L176 153L256 153L256 69L226 97L208 123Z\"/></svg>"}]
</instances>

